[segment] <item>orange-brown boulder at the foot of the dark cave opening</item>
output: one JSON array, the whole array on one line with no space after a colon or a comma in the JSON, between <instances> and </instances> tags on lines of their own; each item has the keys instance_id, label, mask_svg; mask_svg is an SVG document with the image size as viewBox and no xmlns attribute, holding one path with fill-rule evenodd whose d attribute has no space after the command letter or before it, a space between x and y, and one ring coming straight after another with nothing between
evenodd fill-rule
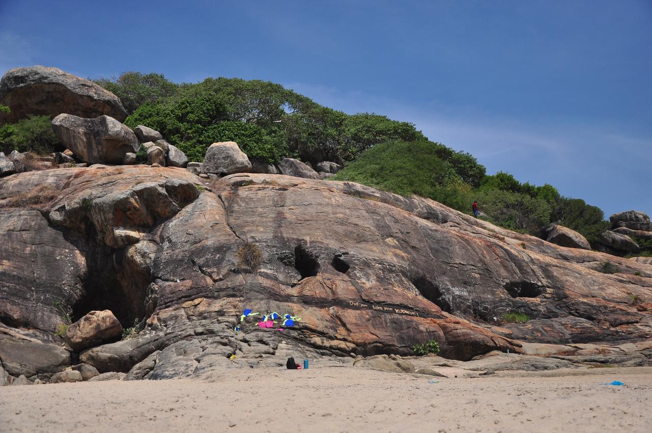
<instances>
[{"instance_id":1,"label":"orange-brown boulder at the foot of the dark cave opening","mask_svg":"<svg viewBox=\"0 0 652 433\"><path fill-rule=\"evenodd\" d=\"M72 323L66 331L66 343L72 350L115 341L122 335L122 326L110 310L91 311Z\"/></svg>"}]
</instances>

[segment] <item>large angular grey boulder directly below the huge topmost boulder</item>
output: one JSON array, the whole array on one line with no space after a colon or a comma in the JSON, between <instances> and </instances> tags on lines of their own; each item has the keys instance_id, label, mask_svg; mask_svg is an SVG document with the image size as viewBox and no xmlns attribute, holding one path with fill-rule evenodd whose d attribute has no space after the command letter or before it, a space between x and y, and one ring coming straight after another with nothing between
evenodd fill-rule
<instances>
[{"instance_id":1,"label":"large angular grey boulder directly below the huge topmost boulder","mask_svg":"<svg viewBox=\"0 0 652 433\"><path fill-rule=\"evenodd\" d=\"M138 151L134 132L107 115L84 119L60 114L52 127L59 142L89 164L122 164L126 153Z\"/></svg>"}]
</instances>

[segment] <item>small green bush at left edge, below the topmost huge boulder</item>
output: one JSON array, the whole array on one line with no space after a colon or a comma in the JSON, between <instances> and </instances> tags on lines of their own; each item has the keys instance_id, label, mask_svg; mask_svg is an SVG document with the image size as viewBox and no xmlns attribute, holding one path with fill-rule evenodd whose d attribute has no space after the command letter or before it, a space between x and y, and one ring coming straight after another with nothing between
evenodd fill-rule
<instances>
[{"instance_id":1,"label":"small green bush at left edge, below the topmost huge boulder","mask_svg":"<svg viewBox=\"0 0 652 433\"><path fill-rule=\"evenodd\" d=\"M19 152L46 155L55 150L59 140L52 130L49 116L30 115L16 123L1 125L0 142L12 145Z\"/></svg>"}]
</instances>

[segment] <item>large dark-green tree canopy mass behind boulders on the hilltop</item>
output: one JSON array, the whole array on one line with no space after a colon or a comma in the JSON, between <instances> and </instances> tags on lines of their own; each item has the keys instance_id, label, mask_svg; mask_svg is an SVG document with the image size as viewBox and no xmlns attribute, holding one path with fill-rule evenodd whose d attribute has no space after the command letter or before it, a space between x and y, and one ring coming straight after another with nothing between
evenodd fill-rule
<instances>
[{"instance_id":1,"label":"large dark-green tree canopy mass behind boulders on the hilltop","mask_svg":"<svg viewBox=\"0 0 652 433\"><path fill-rule=\"evenodd\" d=\"M235 141L250 158L267 162L344 162L377 143L424 139L411 123L373 113L348 115L260 80L207 78L176 85L160 74L125 72L96 82L132 113L126 125L158 130L195 161L213 142ZM459 163L465 163L461 155Z\"/></svg>"}]
</instances>

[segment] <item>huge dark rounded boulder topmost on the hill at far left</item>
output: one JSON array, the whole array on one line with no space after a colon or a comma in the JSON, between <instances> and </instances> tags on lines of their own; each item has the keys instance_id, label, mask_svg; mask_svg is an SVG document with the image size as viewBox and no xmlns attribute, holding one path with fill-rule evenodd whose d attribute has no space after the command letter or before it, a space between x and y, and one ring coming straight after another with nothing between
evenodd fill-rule
<instances>
[{"instance_id":1,"label":"huge dark rounded boulder topmost on the hill at far left","mask_svg":"<svg viewBox=\"0 0 652 433\"><path fill-rule=\"evenodd\" d=\"M42 66L9 70L0 81L0 104L11 108L10 113L0 113L0 123L14 123L30 114L126 118L122 102L110 91L59 68Z\"/></svg>"}]
</instances>

